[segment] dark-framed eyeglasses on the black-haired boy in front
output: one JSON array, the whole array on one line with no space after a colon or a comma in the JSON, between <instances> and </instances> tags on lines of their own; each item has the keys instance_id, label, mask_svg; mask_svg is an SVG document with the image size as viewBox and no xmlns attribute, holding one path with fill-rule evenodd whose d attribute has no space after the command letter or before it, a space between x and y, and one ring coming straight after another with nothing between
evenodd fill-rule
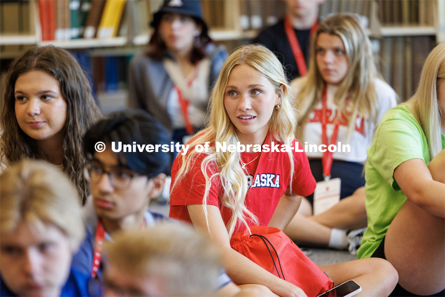
<instances>
[{"instance_id":1,"label":"dark-framed eyeglasses on the black-haired boy in front","mask_svg":"<svg viewBox=\"0 0 445 297\"><path fill-rule=\"evenodd\" d=\"M90 183L97 183L101 178L102 174L106 173L110 184L116 188L125 188L130 185L130 182L134 177L140 176L139 174L131 173L129 170L122 168L111 169L106 171L103 167L97 163L89 163L84 168L85 178Z\"/></svg>"}]
</instances>

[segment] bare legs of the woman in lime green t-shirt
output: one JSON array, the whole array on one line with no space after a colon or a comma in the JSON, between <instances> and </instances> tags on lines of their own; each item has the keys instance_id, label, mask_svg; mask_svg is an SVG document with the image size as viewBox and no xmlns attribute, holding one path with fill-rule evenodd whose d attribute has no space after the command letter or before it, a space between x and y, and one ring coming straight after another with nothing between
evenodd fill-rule
<instances>
[{"instance_id":1,"label":"bare legs of the woman in lime green t-shirt","mask_svg":"<svg viewBox=\"0 0 445 297\"><path fill-rule=\"evenodd\" d=\"M445 183L445 150L428 167L434 180ZM444 290L445 219L406 200L386 234L385 256L403 289L417 295Z\"/></svg>"}]
</instances>

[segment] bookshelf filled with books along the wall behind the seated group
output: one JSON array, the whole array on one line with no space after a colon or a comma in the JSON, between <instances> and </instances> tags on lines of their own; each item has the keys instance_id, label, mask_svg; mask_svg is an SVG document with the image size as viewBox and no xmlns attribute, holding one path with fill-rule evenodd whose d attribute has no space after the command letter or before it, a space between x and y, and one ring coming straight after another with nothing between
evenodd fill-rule
<instances>
[{"instance_id":1,"label":"bookshelf filled with books along the wall behind the seated group","mask_svg":"<svg viewBox=\"0 0 445 297\"><path fill-rule=\"evenodd\" d=\"M97 32L104 18L107 2L120 3L119 7L108 8L114 10L114 14L119 10L119 17L113 21L109 17L108 23L114 24L112 33L107 31L106 38L99 38ZM42 9L48 3L52 3L54 15L51 25L54 32L51 34L57 40L47 40L48 24L42 22L43 18L47 19L47 15L42 14ZM248 43L262 28L276 22L286 10L283 0L201 0L201 3L211 38L216 43L223 43L228 51ZM124 91L121 92L122 88L126 88L125 75L118 78L124 81L114 82L118 85L117 88L109 90L110 88L104 87L103 78L97 82L97 69L105 67L105 61L110 60L113 65L125 67L134 53L148 44L152 32L149 27L152 12L157 11L161 4L162 0L1 1L1 71L7 66L5 60L32 45L52 44L70 49L82 55L85 63L89 63L85 68L89 69L97 97L103 95L100 102L107 102L105 98L108 96L115 107L118 101L116 96L126 96ZM90 17L93 8L96 9L95 21ZM354 12L366 17L367 32L374 43L377 43L381 72L401 99L406 99L415 90L418 66L429 50L435 43L445 41L445 0L325 0L320 6L319 14L324 17L336 12ZM92 38L85 38L88 24L96 26L96 34ZM76 38L73 33L76 30L72 26L80 33ZM61 31L61 28L65 31ZM420 43L423 47L418 45ZM401 49L402 55L398 55L396 49ZM109 57L117 57L118 61ZM395 74L401 72L407 74L401 79L395 79ZM103 73L106 71L102 70L102 75ZM406 85L408 81L411 82L409 87L402 85Z\"/></svg>"}]
</instances>

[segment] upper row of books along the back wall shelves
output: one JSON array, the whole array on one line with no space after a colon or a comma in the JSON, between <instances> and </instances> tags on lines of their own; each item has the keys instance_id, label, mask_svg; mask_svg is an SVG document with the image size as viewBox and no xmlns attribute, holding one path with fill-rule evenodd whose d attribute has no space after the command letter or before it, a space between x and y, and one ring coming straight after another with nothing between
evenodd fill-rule
<instances>
[{"instance_id":1,"label":"upper row of books along the back wall shelves","mask_svg":"<svg viewBox=\"0 0 445 297\"><path fill-rule=\"evenodd\" d=\"M353 12L382 25L433 26L438 0L325 0L320 17ZM204 19L216 30L260 30L286 12L281 0L201 0ZM149 34L162 0L1 0L0 34L34 34L40 19L42 40L110 38ZM33 16L36 15L37 18ZM378 29L377 28L377 29Z\"/></svg>"}]
</instances>

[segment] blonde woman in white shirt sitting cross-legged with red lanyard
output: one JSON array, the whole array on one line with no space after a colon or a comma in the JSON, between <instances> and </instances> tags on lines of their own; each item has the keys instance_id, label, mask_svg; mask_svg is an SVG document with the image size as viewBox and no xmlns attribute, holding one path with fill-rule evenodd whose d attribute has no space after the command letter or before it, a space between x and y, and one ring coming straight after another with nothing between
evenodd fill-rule
<instances>
[{"instance_id":1,"label":"blonde woman in white shirt sitting cross-legged with red lanyard","mask_svg":"<svg viewBox=\"0 0 445 297\"><path fill-rule=\"evenodd\" d=\"M350 244L354 254L361 240L349 243L343 229L366 227L362 176L366 149L383 114L397 105L397 95L379 78L370 41L355 15L337 14L321 22L311 54L307 76L291 86L300 110L299 137L312 145L306 153L318 182L313 203L317 214L310 216L312 208L306 203L285 232L301 244L333 248ZM339 198L346 199L335 204ZM312 197L308 200L313 202Z\"/></svg>"}]
</instances>

